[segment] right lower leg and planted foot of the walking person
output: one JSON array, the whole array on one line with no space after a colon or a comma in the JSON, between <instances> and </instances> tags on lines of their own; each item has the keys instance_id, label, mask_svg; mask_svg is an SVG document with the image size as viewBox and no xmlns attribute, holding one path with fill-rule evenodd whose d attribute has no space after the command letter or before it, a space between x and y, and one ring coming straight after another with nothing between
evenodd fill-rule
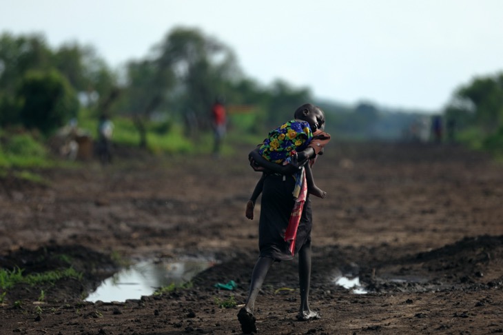
<instances>
[{"instance_id":1,"label":"right lower leg and planted foot of the walking person","mask_svg":"<svg viewBox=\"0 0 503 335\"><path fill-rule=\"evenodd\" d=\"M318 312L309 309L309 287L311 285L311 242L303 245L298 252L298 281L300 285L300 309L298 320L308 321L320 318Z\"/></svg>"}]
</instances>

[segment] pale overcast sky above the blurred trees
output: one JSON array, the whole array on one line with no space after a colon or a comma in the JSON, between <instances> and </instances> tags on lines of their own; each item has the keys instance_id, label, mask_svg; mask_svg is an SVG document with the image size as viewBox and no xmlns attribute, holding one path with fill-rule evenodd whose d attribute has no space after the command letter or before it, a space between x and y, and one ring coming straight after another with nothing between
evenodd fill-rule
<instances>
[{"instance_id":1,"label":"pale overcast sky above the blurred trees","mask_svg":"<svg viewBox=\"0 0 503 335\"><path fill-rule=\"evenodd\" d=\"M0 31L93 45L116 68L176 26L236 52L248 77L316 97L439 110L503 70L500 0L0 0Z\"/></svg>"}]
</instances>

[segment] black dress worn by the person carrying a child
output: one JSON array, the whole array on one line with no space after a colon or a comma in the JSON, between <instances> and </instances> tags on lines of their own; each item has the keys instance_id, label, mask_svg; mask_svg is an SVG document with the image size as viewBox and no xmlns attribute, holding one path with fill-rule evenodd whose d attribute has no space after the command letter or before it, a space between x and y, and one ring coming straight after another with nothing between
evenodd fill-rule
<instances>
[{"instance_id":1,"label":"black dress worn by the person carrying a child","mask_svg":"<svg viewBox=\"0 0 503 335\"><path fill-rule=\"evenodd\" d=\"M275 261L290 261L294 258L288 250L289 244L285 242L285 230L295 203L291 194L294 185L292 176L285 176L283 181L282 175L268 174L264 179L258 223L258 247L261 257L271 257ZM311 201L307 196L297 230L296 254L302 245L311 241L311 227Z\"/></svg>"}]
</instances>

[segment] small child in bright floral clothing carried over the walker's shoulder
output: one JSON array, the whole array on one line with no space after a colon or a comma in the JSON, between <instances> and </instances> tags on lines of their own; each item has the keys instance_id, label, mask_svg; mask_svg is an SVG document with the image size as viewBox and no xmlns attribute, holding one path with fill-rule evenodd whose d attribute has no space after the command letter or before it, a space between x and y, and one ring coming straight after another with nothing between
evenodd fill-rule
<instances>
[{"instance_id":1,"label":"small child in bright floral clothing carried over the walker's shoulder","mask_svg":"<svg viewBox=\"0 0 503 335\"><path fill-rule=\"evenodd\" d=\"M260 155L260 157L271 163L280 165L294 163L300 167L305 166L307 192L325 198L327 192L316 186L311 172L311 165L307 163L311 155L320 153L325 143L330 139L329 134L322 132L323 128L325 128L325 115L320 108L307 103L297 108L294 118L294 120L288 121L269 132L267 139L253 152L256 157L251 158L258 161L260 158L257 156ZM306 150L307 148L313 150ZM261 161L263 162L263 160ZM265 177L266 173L264 172L247 202L245 214L250 220L254 218L255 202L262 192Z\"/></svg>"}]
</instances>

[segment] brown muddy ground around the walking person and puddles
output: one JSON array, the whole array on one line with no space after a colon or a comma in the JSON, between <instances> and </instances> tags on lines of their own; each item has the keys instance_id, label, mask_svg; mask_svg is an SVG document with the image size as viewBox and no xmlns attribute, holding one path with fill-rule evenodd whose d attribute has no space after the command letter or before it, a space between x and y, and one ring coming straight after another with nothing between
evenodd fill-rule
<instances>
[{"instance_id":1,"label":"brown muddy ground around the walking person and puddles","mask_svg":"<svg viewBox=\"0 0 503 335\"><path fill-rule=\"evenodd\" d=\"M47 185L0 179L0 265L30 274L71 264L83 277L0 291L0 334L241 333L258 254L258 220L244 209L259 175L246 154L119 150L107 167L39 173ZM314 174L329 194L312 199L310 303L322 318L296 321L297 263L277 263L256 303L260 334L503 333L502 165L458 146L331 143ZM217 263L186 288L83 301L117 255ZM360 278L367 294L338 276ZM233 291L214 287L231 280Z\"/></svg>"}]
</instances>

